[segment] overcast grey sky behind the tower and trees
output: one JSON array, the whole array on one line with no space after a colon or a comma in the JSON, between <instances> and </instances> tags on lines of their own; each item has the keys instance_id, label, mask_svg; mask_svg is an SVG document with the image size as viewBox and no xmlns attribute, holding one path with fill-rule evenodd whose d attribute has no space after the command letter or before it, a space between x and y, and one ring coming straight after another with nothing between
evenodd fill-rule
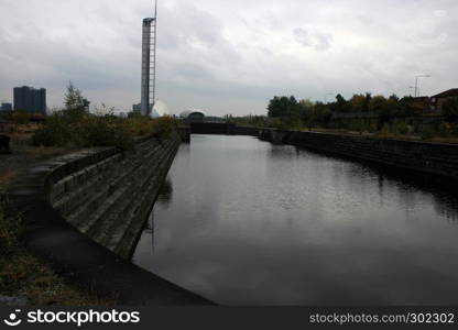
<instances>
[{"instance_id":1,"label":"overcast grey sky behind the tower and trees","mask_svg":"<svg viewBox=\"0 0 458 330\"><path fill-rule=\"evenodd\" d=\"M0 0L0 100L68 80L92 102L140 101L146 0ZM173 113L265 113L270 98L458 88L456 0L160 0L157 97ZM332 96L331 96L332 94Z\"/></svg>"}]
</instances>

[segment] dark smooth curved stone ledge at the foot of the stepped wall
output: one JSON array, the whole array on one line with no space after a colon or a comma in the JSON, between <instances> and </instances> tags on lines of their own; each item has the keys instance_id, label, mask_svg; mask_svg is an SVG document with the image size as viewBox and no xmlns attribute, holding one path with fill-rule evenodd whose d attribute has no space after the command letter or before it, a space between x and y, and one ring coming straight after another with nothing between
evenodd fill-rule
<instances>
[{"instance_id":1,"label":"dark smooth curved stone ledge at the foot of the stepped wall","mask_svg":"<svg viewBox=\"0 0 458 330\"><path fill-rule=\"evenodd\" d=\"M45 202L36 202L25 217L30 230L23 242L55 271L101 297L120 305L215 305L132 263L121 260L69 226Z\"/></svg>"}]
</instances>

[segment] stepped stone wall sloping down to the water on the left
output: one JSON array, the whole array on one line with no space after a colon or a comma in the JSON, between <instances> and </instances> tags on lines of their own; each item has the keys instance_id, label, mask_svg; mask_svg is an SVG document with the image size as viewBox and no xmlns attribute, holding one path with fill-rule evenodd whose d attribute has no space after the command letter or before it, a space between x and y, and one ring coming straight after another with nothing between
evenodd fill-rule
<instances>
[{"instance_id":1,"label":"stepped stone wall sloping down to the water on the left","mask_svg":"<svg viewBox=\"0 0 458 330\"><path fill-rule=\"evenodd\" d=\"M47 199L70 224L129 258L181 143L177 134L141 141L134 152L100 150L64 161L47 185ZM68 157L68 156L67 156Z\"/></svg>"}]
</instances>

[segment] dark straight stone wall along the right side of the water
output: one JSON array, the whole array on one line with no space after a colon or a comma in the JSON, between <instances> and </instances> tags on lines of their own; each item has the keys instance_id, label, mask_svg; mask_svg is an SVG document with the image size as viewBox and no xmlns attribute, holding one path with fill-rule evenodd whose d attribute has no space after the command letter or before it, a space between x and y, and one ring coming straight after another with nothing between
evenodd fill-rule
<instances>
[{"instance_id":1,"label":"dark straight stone wall along the right side of the water","mask_svg":"<svg viewBox=\"0 0 458 330\"><path fill-rule=\"evenodd\" d=\"M260 139L458 179L458 145L273 129Z\"/></svg>"}]
</instances>

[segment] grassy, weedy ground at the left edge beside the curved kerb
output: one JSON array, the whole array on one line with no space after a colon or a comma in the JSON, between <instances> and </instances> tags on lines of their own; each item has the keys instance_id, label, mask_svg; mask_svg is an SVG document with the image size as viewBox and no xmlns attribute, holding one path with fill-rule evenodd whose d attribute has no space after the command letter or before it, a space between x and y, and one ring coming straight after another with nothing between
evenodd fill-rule
<instances>
[{"instance_id":1,"label":"grassy, weedy ground at the left edge beside the curved kerb","mask_svg":"<svg viewBox=\"0 0 458 330\"><path fill-rule=\"evenodd\" d=\"M15 139L19 138L19 139ZM43 258L20 242L23 215L6 211L6 191L35 164L75 150L33 147L23 135L13 136L13 153L0 156L0 305L106 306L113 301L87 293L59 276Z\"/></svg>"}]
</instances>

